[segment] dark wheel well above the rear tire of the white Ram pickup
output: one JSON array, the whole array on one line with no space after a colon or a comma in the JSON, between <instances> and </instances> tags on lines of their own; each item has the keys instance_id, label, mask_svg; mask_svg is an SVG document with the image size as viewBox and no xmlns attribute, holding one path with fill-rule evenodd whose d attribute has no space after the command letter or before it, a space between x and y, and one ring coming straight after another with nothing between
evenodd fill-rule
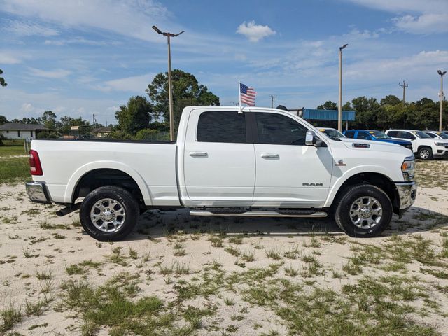
<instances>
[{"instance_id":1,"label":"dark wheel well above the rear tire of the white Ram pickup","mask_svg":"<svg viewBox=\"0 0 448 336\"><path fill-rule=\"evenodd\" d=\"M140 205L144 204L137 182L129 174L118 169L94 169L83 175L76 185L72 202L75 202L78 197L85 197L92 190L102 186L124 188L138 200Z\"/></svg>"}]
</instances>

